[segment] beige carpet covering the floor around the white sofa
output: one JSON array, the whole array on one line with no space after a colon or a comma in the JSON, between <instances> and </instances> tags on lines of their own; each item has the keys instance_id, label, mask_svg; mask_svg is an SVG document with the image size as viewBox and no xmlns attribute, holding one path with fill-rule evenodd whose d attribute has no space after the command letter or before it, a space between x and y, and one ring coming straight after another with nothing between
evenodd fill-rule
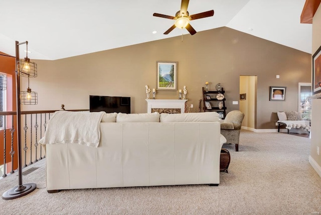
<instances>
[{"instance_id":1,"label":"beige carpet covering the floor around the white sofa","mask_svg":"<svg viewBox=\"0 0 321 215\"><path fill-rule=\"evenodd\" d=\"M45 160L23 177L32 193L0 199L1 214L319 214L321 178L308 163L310 139L284 133L242 131L220 185L179 185L63 190L47 193ZM29 168L29 167L27 167ZM25 168L24 171L27 169ZM86 169L84 169L84 177ZM0 180L0 193L18 176Z\"/></svg>"}]
</instances>

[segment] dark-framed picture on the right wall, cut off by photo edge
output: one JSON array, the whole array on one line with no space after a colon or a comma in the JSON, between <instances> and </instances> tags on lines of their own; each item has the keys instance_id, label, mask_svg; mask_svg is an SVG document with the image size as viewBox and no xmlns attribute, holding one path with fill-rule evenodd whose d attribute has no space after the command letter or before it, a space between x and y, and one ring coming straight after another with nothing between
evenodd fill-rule
<instances>
[{"instance_id":1,"label":"dark-framed picture on the right wall, cut off by photo edge","mask_svg":"<svg viewBox=\"0 0 321 215\"><path fill-rule=\"evenodd\" d=\"M321 46L312 56L312 94L321 93Z\"/></svg>"}]
</instances>

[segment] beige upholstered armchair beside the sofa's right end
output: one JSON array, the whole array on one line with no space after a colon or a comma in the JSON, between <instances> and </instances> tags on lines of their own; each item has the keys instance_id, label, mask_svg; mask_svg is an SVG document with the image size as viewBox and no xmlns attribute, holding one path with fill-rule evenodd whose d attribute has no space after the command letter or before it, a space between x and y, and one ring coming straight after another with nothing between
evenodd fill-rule
<instances>
[{"instance_id":1,"label":"beige upholstered armchair beside the sofa's right end","mask_svg":"<svg viewBox=\"0 0 321 215\"><path fill-rule=\"evenodd\" d=\"M235 144L235 151L239 150L239 140L244 113L239 110L229 112L221 123L221 134L226 138L226 143Z\"/></svg>"}]
</instances>

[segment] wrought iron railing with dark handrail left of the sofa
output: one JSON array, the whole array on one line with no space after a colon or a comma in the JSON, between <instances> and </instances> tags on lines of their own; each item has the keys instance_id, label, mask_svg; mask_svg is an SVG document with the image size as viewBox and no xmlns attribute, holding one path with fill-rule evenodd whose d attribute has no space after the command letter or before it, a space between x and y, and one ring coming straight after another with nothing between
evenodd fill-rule
<instances>
[{"instance_id":1,"label":"wrought iron railing with dark handrail left of the sofa","mask_svg":"<svg viewBox=\"0 0 321 215\"><path fill-rule=\"evenodd\" d=\"M62 109L64 106L62 105ZM21 112L21 144L22 144L22 164L23 168L29 166L43 158L45 151L38 144L46 131L47 123L54 112L58 110L42 111L22 111ZM68 111L89 111L88 109L68 110ZM15 111L0 112L3 127L0 128L0 177L6 177L9 173L17 170L17 113ZM0 124L0 126L1 126Z\"/></svg>"}]
</instances>

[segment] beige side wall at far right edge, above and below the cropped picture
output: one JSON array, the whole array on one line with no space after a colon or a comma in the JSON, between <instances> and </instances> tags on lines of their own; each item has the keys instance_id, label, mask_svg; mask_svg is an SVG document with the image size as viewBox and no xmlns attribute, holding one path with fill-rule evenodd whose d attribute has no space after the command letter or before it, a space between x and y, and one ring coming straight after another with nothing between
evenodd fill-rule
<instances>
[{"instance_id":1,"label":"beige side wall at far right edge, above and below the cropped picture","mask_svg":"<svg viewBox=\"0 0 321 215\"><path fill-rule=\"evenodd\" d=\"M312 53L315 53L316 50L321 46L321 5L318 7L316 13L313 16L313 23L312 23ZM313 105L313 100L312 100ZM318 112L318 113L316 113ZM320 130L320 122L313 121L313 114L320 115L320 109L312 109L312 125L319 126ZM316 147L318 146L321 149L321 141L317 136L318 134L314 134L311 132L311 157L317 163L318 168L321 171L321 155L317 155ZM319 173L320 174L320 173ZM321 176L321 175L320 175Z\"/></svg>"}]
</instances>

